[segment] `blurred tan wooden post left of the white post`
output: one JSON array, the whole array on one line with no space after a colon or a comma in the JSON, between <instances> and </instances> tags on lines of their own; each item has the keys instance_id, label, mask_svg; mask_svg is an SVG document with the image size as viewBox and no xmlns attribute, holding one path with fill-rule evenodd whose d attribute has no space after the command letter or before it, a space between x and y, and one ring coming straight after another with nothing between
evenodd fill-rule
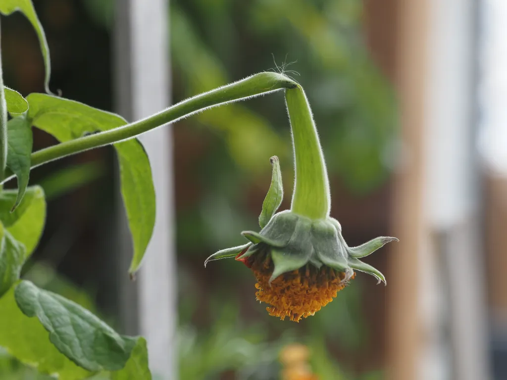
<instances>
[{"instance_id":1,"label":"blurred tan wooden post left of the white post","mask_svg":"<svg viewBox=\"0 0 507 380\"><path fill-rule=\"evenodd\" d=\"M427 82L428 1L399 1L396 87L400 100L400 167L395 175L392 236L400 239L389 256L387 378L417 378L420 343L419 279L423 249L423 141Z\"/></svg>"}]
</instances>

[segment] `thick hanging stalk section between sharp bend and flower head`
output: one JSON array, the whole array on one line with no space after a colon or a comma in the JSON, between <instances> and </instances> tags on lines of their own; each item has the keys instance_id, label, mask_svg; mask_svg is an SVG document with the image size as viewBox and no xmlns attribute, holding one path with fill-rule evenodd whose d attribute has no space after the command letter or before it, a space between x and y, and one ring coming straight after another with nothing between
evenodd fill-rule
<instances>
[{"instance_id":1,"label":"thick hanging stalk section between sharp bend and flower head","mask_svg":"<svg viewBox=\"0 0 507 380\"><path fill-rule=\"evenodd\" d=\"M294 144L295 180L291 210L325 219L331 209L328 172L308 99L301 86L285 91Z\"/></svg>"}]
</instances>

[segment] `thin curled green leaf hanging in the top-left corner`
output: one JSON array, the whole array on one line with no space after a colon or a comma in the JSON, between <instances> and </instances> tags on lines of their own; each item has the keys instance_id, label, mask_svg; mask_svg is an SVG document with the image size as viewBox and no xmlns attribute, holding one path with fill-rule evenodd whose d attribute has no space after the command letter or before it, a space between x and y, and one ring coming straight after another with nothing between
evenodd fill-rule
<instances>
[{"instance_id":1,"label":"thin curled green leaf hanging in the top-left corner","mask_svg":"<svg viewBox=\"0 0 507 380\"><path fill-rule=\"evenodd\" d=\"M44 79L44 87L46 92L49 91L49 78L51 77L51 61L49 59L48 43L46 41L46 35L42 28L41 22L35 13L35 9L30 0L0 0L0 13L8 16L15 11L20 11L25 15L28 21L31 22L35 33L39 37L39 44L41 46L42 57L44 59L44 65L46 66L46 77Z\"/></svg>"}]
</instances>

